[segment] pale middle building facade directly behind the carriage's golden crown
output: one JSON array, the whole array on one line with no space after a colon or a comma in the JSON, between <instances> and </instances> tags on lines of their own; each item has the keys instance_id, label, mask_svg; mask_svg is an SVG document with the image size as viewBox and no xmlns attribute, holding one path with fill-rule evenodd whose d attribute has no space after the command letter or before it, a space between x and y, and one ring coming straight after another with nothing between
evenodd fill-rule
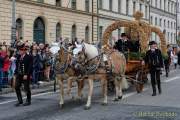
<instances>
[{"instance_id":1,"label":"pale middle building facade directly behind the carriage's golden crown","mask_svg":"<svg viewBox=\"0 0 180 120\"><path fill-rule=\"evenodd\" d=\"M102 35L105 29L117 20L130 21L133 20L133 13L135 11L142 11L144 20L149 22L149 1L148 0L99 0L99 22L98 31L99 40L102 40ZM124 28L119 28L113 31L111 42L119 39Z\"/></svg>"}]
</instances>

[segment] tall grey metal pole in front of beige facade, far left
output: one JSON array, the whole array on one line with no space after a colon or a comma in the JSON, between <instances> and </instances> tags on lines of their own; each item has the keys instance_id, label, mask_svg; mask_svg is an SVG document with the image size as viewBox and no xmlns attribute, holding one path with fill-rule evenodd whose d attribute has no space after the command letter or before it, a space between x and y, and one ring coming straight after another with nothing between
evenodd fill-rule
<instances>
[{"instance_id":1,"label":"tall grey metal pole in front of beige facade, far left","mask_svg":"<svg viewBox=\"0 0 180 120\"><path fill-rule=\"evenodd\" d=\"M14 46L16 40L16 0L12 0L12 27L11 27L11 46Z\"/></svg>"}]
</instances>

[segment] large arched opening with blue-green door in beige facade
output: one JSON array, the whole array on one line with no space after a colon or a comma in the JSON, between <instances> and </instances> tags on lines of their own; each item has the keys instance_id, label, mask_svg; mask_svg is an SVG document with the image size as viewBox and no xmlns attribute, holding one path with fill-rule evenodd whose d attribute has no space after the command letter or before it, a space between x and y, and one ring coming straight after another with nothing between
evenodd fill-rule
<instances>
[{"instance_id":1,"label":"large arched opening with blue-green door in beige facade","mask_svg":"<svg viewBox=\"0 0 180 120\"><path fill-rule=\"evenodd\" d=\"M36 43L45 43L45 24L41 17L34 21L33 40Z\"/></svg>"}]
</instances>

